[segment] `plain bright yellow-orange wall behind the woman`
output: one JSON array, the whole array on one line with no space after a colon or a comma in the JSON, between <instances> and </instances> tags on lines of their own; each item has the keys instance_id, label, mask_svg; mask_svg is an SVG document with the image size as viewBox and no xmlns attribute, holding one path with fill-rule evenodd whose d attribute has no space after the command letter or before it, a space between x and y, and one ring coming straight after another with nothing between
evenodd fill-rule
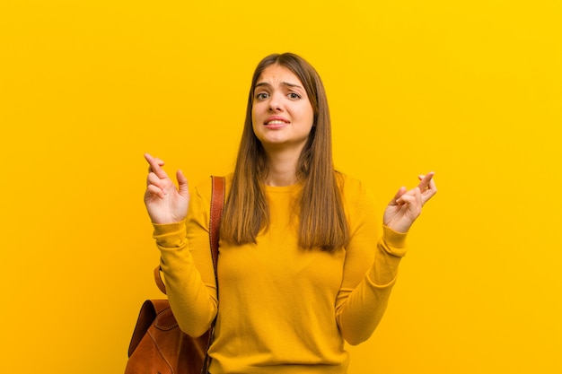
<instances>
[{"instance_id":1,"label":"plain bright yellow-orange wall behind the woman","mask_svg":"<svg viewBox=\"0 0 562 374\"><path fill-rule=\"evenodd\" d=\"M381 211L440 190L349 373L561 372L561 4L0 0L3 371L124 370L160 297L143 153L231 170L254 66L292 51Z\"/></svg>"}]
</instances>

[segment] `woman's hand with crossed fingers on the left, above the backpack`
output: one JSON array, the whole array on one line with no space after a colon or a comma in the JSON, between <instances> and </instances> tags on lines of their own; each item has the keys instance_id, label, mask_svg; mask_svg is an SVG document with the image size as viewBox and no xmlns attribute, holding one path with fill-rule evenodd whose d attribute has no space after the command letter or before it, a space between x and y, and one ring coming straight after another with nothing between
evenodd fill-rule
<instances>
[{"instance_id":1,"label":"woman's hand with crossed fingers on the left, above the backpack","mask_svg":"<svg viewBox=\"0 0 562 374\"><path fill-rule=\"evenodd\" d=\"M145 153L150 167L146 178L145 205L153 223L175 223L185 219L189 206L188 179L176 172L178 187L162 169L164 162Z\"/></svg>"}]
</instances>

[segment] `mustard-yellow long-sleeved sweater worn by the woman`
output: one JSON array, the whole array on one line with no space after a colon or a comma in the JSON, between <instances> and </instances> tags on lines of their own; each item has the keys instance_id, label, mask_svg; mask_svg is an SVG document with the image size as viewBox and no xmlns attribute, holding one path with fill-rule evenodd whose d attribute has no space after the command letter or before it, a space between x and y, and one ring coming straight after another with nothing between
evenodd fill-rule
<instances>
[{"instance_id":1,"label":"mustard-yellow long-sleeved sweater worn by the woman","mask_svg":"<svg viewBox=\"0 0 562 374\"><path fill-rule=\"evenodd\" d=\"M210 178L192 194L186 222L154 225L181 329L202 335L218 311L212 374L343 374L344 340L363 342L382 318L406 235L383 227L381 236L372 195L344 176L347 248L303 250L291 220L295 188L267 187L270 225L257 244L220 241L220 307L208 238Z\"/></svg>"}]
</instances>

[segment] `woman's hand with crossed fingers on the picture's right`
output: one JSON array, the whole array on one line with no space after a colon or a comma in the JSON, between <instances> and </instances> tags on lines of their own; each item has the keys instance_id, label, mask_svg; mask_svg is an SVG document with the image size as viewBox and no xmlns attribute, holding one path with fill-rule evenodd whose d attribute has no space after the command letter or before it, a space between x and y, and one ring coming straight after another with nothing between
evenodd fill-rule
<instances>
[{"instance_id":1,"label":"woman's hand with crossed fingers on the picture's right","mask_svg":"<svg viewBox=\"0 0 562 374\"><path fill-rule=\"evenodd\" d=\"M397 232L408 232L421 214L422 206L437 193L434 174L432 171L419 176L419 184L409 191L406 187L400 187L384 210L382 222Z\"/></svg>"}]
</instances>

